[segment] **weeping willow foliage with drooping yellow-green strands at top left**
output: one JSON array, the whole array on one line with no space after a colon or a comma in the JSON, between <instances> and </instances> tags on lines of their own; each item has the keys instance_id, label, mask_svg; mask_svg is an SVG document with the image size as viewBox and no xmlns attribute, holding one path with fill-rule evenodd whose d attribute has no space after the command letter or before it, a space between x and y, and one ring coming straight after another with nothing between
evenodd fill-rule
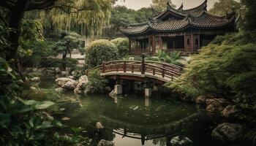
<instances>
[{"instance_id":1,"label":"weeping willow foliage with drooping yellow-green strands at top left","mask_svg":"<svg viewBox=\"0 0 256 146\"><path fill-rule=\"evenodd\" d=\"M37 18L50 31L75 31L97 37L108 26L113 3L113 0L56 1L48 9L28 12L26 18Z\"/></svg>"}]
</instances>

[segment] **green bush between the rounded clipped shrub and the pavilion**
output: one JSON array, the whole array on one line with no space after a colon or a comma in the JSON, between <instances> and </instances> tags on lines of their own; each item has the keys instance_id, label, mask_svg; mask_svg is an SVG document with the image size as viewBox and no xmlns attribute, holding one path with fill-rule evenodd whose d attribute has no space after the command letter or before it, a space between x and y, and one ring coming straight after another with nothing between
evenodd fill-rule
<instances>
[{"instance_id":1,"label":"green bush between the rounded clipped shrub and the pavilion","mask_svg":"<svg viewBox=\"0 0 256 146\"><path fill-rule=\"evenodd\" d=\"M129 54L129 39L128 38L117 38L112 39L110 42L116 45L118 49L118 55L122 58Z\"/></svg>"}]
</instances>

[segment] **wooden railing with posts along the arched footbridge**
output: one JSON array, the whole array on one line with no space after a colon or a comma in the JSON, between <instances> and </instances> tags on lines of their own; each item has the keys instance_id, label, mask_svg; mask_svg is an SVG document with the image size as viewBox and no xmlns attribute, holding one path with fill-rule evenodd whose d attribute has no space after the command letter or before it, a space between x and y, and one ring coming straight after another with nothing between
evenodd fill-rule
<instances>
[{"instance_id":1,"label":"wooden railing with posts along the arched footbridge","mask_svg":"<svg viewBox=\"0 0 256 146\"><path fill-rule=\"evenodd\" d=\"M94 69L99 69L102 73L123 72L147 74L173 80L174 77L181 74L183 68L174 64L165 64L156 61L118 60L103 62L102 65Z\"/></svg>"}]
</instances>

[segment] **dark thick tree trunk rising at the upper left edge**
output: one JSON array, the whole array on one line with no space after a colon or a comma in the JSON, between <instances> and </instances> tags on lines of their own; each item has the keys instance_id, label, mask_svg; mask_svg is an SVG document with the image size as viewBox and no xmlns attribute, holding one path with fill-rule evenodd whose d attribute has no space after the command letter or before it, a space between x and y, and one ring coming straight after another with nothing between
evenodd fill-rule
<instances>
[{"instance_id":1,"label":"dark thick tree trunk rising at the upper left edge","mask_svg":"<svg viewBox=\"0 0 256 146\"><path fill-rule=\"evenodd\" d=\"M16 58L17 50L20 39L20 23L26 8L29 6L28 0L18 0L15 7L12 9L12 15L9 20L9 27L13 28L15 32L11 31L9 35L9 41L11 42L10 47L7 48L7 61L11 61Z\"/></svg>"}]
</instances>

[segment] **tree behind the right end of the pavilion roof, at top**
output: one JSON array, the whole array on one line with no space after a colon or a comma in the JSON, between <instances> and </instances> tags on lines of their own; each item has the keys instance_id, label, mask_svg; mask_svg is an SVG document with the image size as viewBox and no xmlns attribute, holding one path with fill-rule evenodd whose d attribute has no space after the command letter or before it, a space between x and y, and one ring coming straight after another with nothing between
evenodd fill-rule
<instances>
[{"instance_id":1,"label":"tree behind the right end of the pavilion roof, at top","mask_svg":"<svg viewBox=\"0 0 256 146\"><path fill-rule=\"evenodd\" d=\"M209 12L215 15L226 15L227 12L236 11L238 14L241 3L236 0L219 0L214 3L214 7Z\"/></svg>"}]
</instances>

